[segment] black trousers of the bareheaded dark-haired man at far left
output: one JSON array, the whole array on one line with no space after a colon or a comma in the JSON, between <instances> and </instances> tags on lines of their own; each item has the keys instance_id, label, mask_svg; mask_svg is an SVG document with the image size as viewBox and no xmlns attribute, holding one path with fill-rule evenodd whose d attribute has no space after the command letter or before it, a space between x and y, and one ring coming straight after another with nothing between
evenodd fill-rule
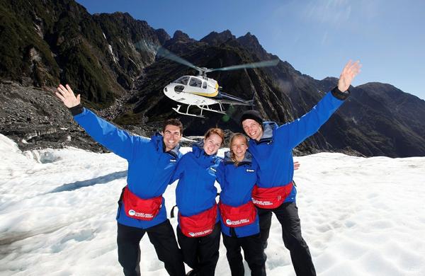
<instances>
[{"instance_id":1,"label":"black trousers of the bareheaded dark-haired man at far left","mask_svg":"<svg viewBox=\"0 0 425 276\"><path fill-rule=\"evenodd\" d=\"M176 236L169 220L161 224L140 229L118 223L118 261L123 267L124 275L140 275L140 240L147 233L159 260L164 262L169 275L186 275L183 256L177 246Z\"/></svg>"}]
</instances>

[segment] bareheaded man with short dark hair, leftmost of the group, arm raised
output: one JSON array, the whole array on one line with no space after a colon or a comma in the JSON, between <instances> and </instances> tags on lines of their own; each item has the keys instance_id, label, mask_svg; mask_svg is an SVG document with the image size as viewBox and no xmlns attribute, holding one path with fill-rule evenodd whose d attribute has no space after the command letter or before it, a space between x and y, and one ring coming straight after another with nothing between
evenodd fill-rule
<instances>
[{"instance_id":1,"label":"bareheaded man with short dark hair, leftmost of the group, arm raised","mask_svg":"<svg viewBox=\"0 0 425 276\"><path fill-rule=\"evenodd\" d=\"M182 156L179 151L181 122L167 120L163 134L147 139L120 130L84 108L80 96L76 97L68 85L60 84L56 96L96 142L128 161L127 185L120 196L117 214L118 261L124 274L140 275L139 243L147 233L169 275L185 275L183 257L166 218L162 197Z\"/></svg>"}]
</instances>

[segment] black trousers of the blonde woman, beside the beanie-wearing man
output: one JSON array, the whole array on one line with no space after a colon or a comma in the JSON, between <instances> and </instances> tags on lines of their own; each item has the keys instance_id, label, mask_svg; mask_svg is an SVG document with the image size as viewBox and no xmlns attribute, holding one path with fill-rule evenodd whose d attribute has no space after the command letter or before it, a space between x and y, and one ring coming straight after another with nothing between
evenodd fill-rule
<instances>
[{"instance_id":1,"label":"black trousers of the blonde woman, beside the beanie-wearing man","mask_svg":"<svg viewBox=\"0 0 425 276\"><path fill-rule=\"evenodd\" d=\"M232 233L232 231L231 231ZM244 249L244 257L251 269L251 276L266 276L266 259L263 257L263 245L260 234L238 238L237 236L223 235L223 243L227 249L232 276L244 276L244 264L242 263L241 248Z\"/></svg>"}]
</instances>

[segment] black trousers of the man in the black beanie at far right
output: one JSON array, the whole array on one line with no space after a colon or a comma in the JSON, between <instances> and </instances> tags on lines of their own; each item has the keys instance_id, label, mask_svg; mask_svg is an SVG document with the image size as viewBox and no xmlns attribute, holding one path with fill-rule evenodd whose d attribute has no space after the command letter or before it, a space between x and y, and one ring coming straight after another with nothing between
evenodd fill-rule
<instances>
[{"instance_id":1,"label":"black trousers of the man in the black beanie at far right","mask_svg":"<svg viewBox=\"0 0 425 276\"><path fill-rule=\"evenodd\" d=\"M273 212L282 226L282 238L285 247L290 251L290 258L297 276L316 275L310 250L301 236L300 217L295 202L283 203L275 209L258 208L260 219L260 234L263 247L267 247L267 238L271 226Z\"/></svg>"}]
</instances>

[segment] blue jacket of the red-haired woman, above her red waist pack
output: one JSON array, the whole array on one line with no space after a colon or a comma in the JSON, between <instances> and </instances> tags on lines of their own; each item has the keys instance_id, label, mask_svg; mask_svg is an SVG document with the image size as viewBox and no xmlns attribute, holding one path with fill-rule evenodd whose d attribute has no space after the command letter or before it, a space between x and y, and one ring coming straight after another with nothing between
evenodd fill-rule
<instances>
[{"instance_id":1,"label":"blue jacket of the red-haired woman, above her red waist pack","mask_svg":"<svg viewBox=\"0 0 425 276\"><path fill-rule=\"evenodd\" d=\"M180 159L171 181L179 179L176 205L183 216L199 214L216 204L215 172L221 162L220 157L205 154L200 146L193 146L192 152Z\"/></svg>"}]
</instances>

